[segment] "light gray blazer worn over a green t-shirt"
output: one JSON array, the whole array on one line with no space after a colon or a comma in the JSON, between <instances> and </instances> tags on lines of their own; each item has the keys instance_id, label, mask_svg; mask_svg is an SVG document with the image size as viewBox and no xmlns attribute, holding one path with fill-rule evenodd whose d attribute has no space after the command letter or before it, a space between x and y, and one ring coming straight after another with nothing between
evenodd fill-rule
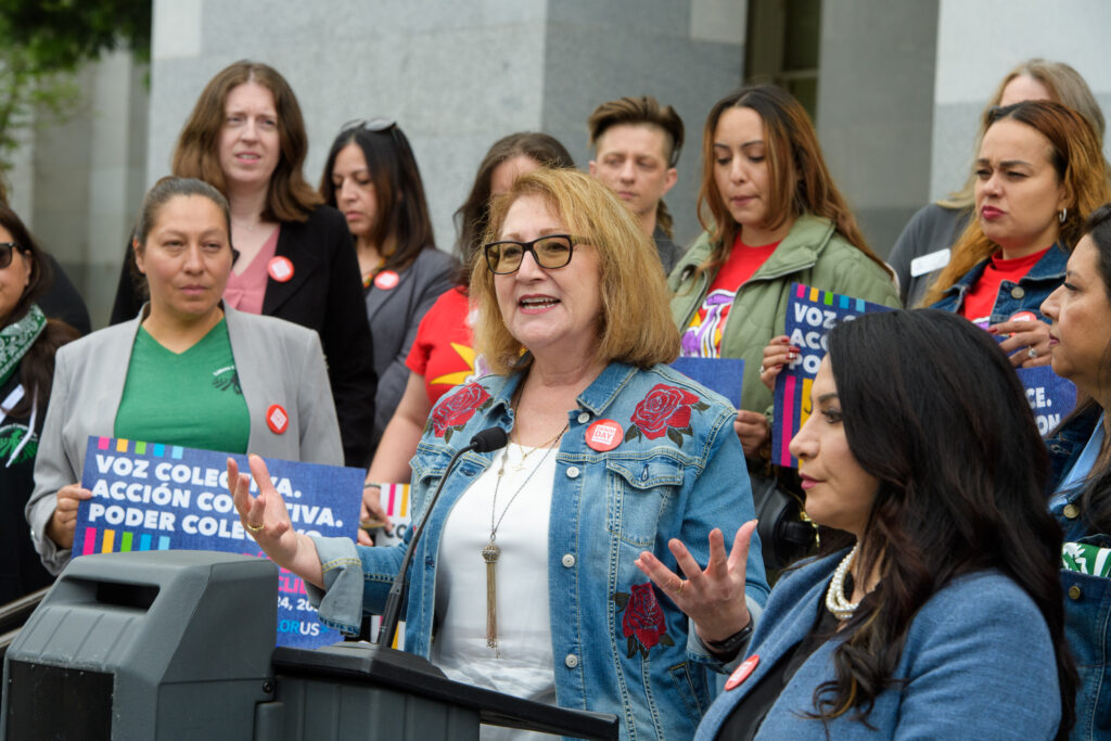
<instances>
[{"instance_id":1,"label":"light gray blazer worn over a green t-shirt","mask_svg":"<svg viewBox=\"0 0 1111 741\"><path fill-rule=\"evenodd\" d=\"M43 534L53 515L54 494L81 480L89 435L113 437L127 363L144 314L146 308L129 322L93 332L58 351L50 407L34 461L34 491L24 510L34 548L53 573L61 571L70 557L69 549L58 548ZM282 319L229 307L224 307L224 317L251 417L247 450L263 458L342 465L336 407L317 333ZM281 404L289 414L283 434L267 427L271 404Z\"/></svg>"}]
</instances>

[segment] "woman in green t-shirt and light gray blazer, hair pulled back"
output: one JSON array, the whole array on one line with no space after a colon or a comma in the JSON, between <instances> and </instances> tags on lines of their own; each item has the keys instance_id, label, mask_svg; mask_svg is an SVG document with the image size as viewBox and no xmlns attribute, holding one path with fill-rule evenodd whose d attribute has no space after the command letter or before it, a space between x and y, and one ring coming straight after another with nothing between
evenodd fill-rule
<instances>
[{"instance_id":1,"label":"woman in green t-shirt and light gray blazer, hair pulled back","mask_svg":"<svg viewBox=\"0 0 1111 741\"><path fill-rule=\"evenodd\" d=\"M27 504L36 549L69 561L91 435L340 465L320 338L222 299L231 214L212 186L163 178L143 199L134 266L150 301L58 356Z\"/></svg>"}]
</instances>

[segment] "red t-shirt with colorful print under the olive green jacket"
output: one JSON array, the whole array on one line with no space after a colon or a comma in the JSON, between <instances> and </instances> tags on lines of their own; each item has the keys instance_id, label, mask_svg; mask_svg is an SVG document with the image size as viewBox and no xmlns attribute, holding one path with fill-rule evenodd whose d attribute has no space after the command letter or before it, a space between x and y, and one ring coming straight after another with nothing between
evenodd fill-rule
<instances>
[{"instance_id":1,"label":"red t-shirt with colorful print under the olive green jacket","mask_svg":"<svg viewBox=\"0 0 1111 741\"><path fill-rule=\"evenodd\" d=\"M738 234L729 259L721 266L718 276L710 283L702 307L691 318L690 327L683 332L680 354L684 358L719 358L721 333L729 319L729 310L741 287L755 274L779 247L778 242L761 247L749 247Z\"/></svg>"}]
</instances>

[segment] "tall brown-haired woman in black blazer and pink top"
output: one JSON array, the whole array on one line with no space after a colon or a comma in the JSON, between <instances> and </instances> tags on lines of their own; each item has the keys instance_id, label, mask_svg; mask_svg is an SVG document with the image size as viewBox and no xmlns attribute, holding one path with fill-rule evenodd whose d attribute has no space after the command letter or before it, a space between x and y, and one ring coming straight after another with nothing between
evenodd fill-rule
<instances>
[{"instance_id":1,"label":"tall brown-haired woman in black blazer and pink top","mask_svg":"<svg viewBox=\"0 0 1111 741\"><path fill-rule=\"evenodd\" d=\"M173 174L208 182L231 204L236 260L224 302L320 336L343 458L362 467L372 452L376 380L359 264L343 217L304 180L307 152L289 83L272 67L241 60L201 92L178 138ZM144 283L127 270L112 323L134 318L143 301Z\"/></svg>"}]
</instances>

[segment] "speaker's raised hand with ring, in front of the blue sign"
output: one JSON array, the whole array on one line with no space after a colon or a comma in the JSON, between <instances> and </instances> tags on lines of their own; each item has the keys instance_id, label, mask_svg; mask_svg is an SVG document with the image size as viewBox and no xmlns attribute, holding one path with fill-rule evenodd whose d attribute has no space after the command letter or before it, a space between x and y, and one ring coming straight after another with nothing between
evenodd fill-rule
<instances>
[{"instance_id":1,"label":"speaker's raised hand with ring, in front of the blue sign","mask_svg":"<svg viewBox=\"0 0 1111 741\"><path fill-rule=\"evenodd\" d=\"M251 481L239 472L236 460L228 459L228 489L240 522L271 561L323 588L324 577L312 539L293 530L286 500L271 482L266 462L258 455L249 455L248 461L259 487L258 497L251 495Z\"/></svg>"}]
</instances>

